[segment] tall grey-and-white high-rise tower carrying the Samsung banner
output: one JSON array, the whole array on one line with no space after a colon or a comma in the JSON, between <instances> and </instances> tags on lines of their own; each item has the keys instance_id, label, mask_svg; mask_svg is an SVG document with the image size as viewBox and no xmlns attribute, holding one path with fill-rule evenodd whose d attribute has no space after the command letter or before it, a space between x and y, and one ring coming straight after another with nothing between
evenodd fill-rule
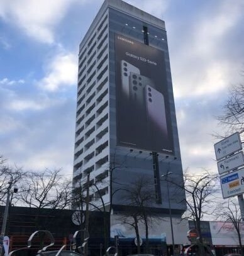
<instances>
[{"instance_id":1,"label":"tall grey-and-white high-rise tower carrying the Samsung banner","mask_svg":"<svg viewBox=\"0 0 244 256\"><path fill-rule=\"evenodd\" d=\"M152 211L168 213L161 176L182 182L165 23L121 0L104 1L79 47L74 187L88 174L89 201L113 200L114 213L139 177L153 184ZM184 191L170 183L169 194L182 214Z\"/></svg>"}]
</instances>

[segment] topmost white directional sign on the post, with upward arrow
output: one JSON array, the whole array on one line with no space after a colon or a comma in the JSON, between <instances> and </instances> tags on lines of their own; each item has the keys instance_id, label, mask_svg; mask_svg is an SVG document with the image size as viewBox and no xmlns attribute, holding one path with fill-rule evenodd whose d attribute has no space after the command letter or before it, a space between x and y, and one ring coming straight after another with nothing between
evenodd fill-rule
<instances>
[{"instance_id":1,"label":"topmost white directional sign on the post, with upward arrow","mask_svg":"<svg viewBox=\"0 0 244 256\"><path fill-rule=\"evenodd\" d=\"M241 148L240 134L233 133L233 135L228 136L228 138L214 144L216 159L222 159L231 153L241 150Z\"/></svg>"}]
</instances>

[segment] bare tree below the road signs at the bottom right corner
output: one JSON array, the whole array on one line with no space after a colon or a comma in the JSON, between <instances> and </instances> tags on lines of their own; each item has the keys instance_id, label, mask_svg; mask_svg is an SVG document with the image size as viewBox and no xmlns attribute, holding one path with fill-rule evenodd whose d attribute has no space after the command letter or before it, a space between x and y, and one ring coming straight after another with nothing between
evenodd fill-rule
<instances>
[{"instance_id":1,"label":"bare tree below the road signs at the bottom right corner","mask_svg":"<svg viewBox=\"0 0 244 256\"><path fill-rule=\"evenodd\" d=\"M238 236L240 253L244 256L244 249L241 243L241 228L243 228L243 223L241 220L241 211L238 201L235 199L228 199L228 201L218 204L215 214L218 220L223 221L223 225L229 222L234 226Z\"/></svg>"}]
</instances>

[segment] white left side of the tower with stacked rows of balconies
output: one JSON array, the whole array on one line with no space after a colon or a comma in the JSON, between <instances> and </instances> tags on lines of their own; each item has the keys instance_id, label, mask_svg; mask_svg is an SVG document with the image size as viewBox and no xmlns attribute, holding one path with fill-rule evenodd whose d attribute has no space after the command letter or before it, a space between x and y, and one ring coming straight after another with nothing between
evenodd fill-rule
<instances>
[{"instance_id":1,"label":"white left side of the tower with stacked rows of balconies","mask_svg":"<svg viewBox=\"0 0 244 256\"><path fill-rule=\"evenodd\" d=\"M108 99L104 102L104 98L108 97L107 49L108 16L106 15L97 26L97 30L92 33L86 47L79 53L75 159L78 160L81 155L84 155L84 158L74 165L74 172L80 170L82 166L87 166L92 159L108 148L108 138L99 143L108 134L108 125L104 126L104 123L108 123L108 111L105 111L108 109ZM96 143L96 148L90 152L91 147L94 147ZM108 153L105 155L79 174L77 181L86 177L89 172L107 164ZM99 174L97 179L105 177L107 176ZM101 193L108 193L108 189L101 189ZM90 197L95 200L96 193Z\"/></svg>"}]
</instances>

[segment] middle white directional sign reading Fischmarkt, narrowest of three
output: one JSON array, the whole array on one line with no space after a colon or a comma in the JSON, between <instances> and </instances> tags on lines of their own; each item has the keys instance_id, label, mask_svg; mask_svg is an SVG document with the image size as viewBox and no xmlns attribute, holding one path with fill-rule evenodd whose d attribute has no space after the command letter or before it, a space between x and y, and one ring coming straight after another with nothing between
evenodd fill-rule
<instances>
[{"instance_id":1,"label":"middle white directional sign reading Fischmarkt, narrowest of three","mask_svg":"<svg viewBox=\"0 0 244 256\"><path fill-rule=\"evenodd\" d=\"M217 164L219 174L236 169L241 165L244 165L243 152L235 153L235 155L231 155L231 157L227 157L226 159L219 161Z\"/></svg>"}]
</instances>

